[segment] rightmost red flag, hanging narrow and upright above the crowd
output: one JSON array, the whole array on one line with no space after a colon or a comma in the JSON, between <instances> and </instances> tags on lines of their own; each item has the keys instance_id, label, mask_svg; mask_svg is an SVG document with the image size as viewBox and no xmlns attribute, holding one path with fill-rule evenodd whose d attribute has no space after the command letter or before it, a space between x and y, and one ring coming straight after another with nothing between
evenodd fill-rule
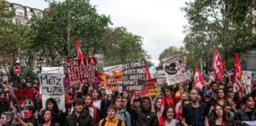
<instances>
[{"instance_id":1,"label":"rightmost red flag, hanging narrow and upright above the crowd","mask_svg":"<svg viewBox=\"0 0 256 126\"><path fill-rule=\"evenodd\" d=\"M233 79L234 83L234 92L243 91L243 69L239 61L238 54L235 53L235 63L234 63Z\"/></svg>"}]
</instances>

